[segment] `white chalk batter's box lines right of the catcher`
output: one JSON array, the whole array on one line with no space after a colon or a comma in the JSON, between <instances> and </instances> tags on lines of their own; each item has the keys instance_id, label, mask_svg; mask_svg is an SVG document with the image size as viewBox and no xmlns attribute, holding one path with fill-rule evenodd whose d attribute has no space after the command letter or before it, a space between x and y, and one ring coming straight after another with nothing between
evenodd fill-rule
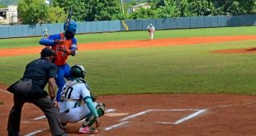
<instances>
[{"instance_id":1,"label":"white chalk batter's box lines right of the catcher","mask_svg":"<svg viewBox=\"0 0 256 136\"><path fill-rule=\"evenodd\" d=\"M186 110L193 110L193 109L173 109L173 110L158 110L158 109L151 109L151 110L145 110L145 111L141 111L135 115L130 115L130 116L127 116L126 118L123 118L121 119L121 123L119 124L114 124L114 125L111 125L110 127L107 127L105 130L111 130L111 129L115 129L123 124L127 124L129 121L127 120L130 120L132 118L135 118L137 116L140 116L140 115L145 115L146 113L150 112L150 111L186 111ZM202 109L202 110L193 110L193 111L196 111L190 115L187 115L185 117L183 117L182 119L180 120L177 120L175 122L156 122L156 123L160 123L160 124L180 124L186 120L190 120L194 117L196 117L197 115L201 115L202 113L206 112L207 109Z\"/></svg>"}]
</instances>

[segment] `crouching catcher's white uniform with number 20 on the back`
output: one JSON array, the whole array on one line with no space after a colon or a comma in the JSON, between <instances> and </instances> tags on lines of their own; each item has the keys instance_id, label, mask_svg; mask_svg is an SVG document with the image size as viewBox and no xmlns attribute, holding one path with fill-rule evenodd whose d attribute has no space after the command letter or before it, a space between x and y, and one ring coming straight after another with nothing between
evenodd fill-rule
<instances>
[{"instance_id":1,"label":"crouching catcher's white uniform with number 20 on the back","mask_svg":"<svg viewBox=\"0 0 256 136\"><path fill-rule=\"evenodd\" d=\"M90 96L88 85L85 83L77 82L76 80L67 82L64 85L58 103L60 122L76 123L90 115L91 111L83 102L83 98ZM93 105L96 107L97 102L93 102Z\"/></svg>"}]
</instances>

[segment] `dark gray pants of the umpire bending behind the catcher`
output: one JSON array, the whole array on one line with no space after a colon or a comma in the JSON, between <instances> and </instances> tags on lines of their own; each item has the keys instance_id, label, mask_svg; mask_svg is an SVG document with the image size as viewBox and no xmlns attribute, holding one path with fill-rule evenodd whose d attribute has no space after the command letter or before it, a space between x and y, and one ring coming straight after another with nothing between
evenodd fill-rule
<instances>
[{"instance_id":1,"label":"dark gray pants of the umpire bending behind the catcher","mask_svg":"<svg viewBox=\"0 0 256 136\"><path fill-rule=\"evenodd\" d=\"M50 131L53 136L64 134L64 130L59 120L59 112L55 107L53 101L51 101L46 96L42 97L32 97L31 98L21 98L17 95L13 96L14 106L10 111L7 131L8 135L18 135L20 133L21 124L21 109L26 102L31 102L38 106L42 110L48 120L50 125Z\"/></svg>"}]
</instances>

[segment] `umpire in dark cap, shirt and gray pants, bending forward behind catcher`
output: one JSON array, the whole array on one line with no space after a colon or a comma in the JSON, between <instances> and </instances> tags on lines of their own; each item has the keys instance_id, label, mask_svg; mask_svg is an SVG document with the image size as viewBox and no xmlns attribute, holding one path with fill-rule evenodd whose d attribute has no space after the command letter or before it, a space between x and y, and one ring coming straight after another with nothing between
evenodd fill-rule
<instances>
[{"instance_id":1,"label":"umpire in dark cap, shirt and gray pants, bending forward behind catcher","mask_svg":"<svg viewBox=\"0 0 256 136\"><path fill-rule=\"evenodd\" d=\"M31 61L18 82L7 88L13 93L14 106L10 111L7 131L8 136L18 136L21 124L21 109L26 102L33 103L42 110L48 119L53 136L66 136L59 121L59 112L55 107L55 77L58 67L52 63L55 52L44 48L40 52L40 59ZM49 95L44 88L48 82Z\"/></svg>"}]
</instances>

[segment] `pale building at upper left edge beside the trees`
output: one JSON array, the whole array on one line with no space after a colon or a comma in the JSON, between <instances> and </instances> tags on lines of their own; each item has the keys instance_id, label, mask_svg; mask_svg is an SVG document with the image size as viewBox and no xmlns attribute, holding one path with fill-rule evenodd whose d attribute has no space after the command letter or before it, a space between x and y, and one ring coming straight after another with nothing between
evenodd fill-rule
<instances>
[{"instance_id":1,"label":"pale building at upper left edge beside the trees","mask_svg":"<svg viewBox=\"0 0 256 136\"><path fill-rule=\"evenodd\" d=\"M0 24L9 25L17 23L17 6L9 5L7 8L0 9Z\"/></svg>"}]
</instances>

